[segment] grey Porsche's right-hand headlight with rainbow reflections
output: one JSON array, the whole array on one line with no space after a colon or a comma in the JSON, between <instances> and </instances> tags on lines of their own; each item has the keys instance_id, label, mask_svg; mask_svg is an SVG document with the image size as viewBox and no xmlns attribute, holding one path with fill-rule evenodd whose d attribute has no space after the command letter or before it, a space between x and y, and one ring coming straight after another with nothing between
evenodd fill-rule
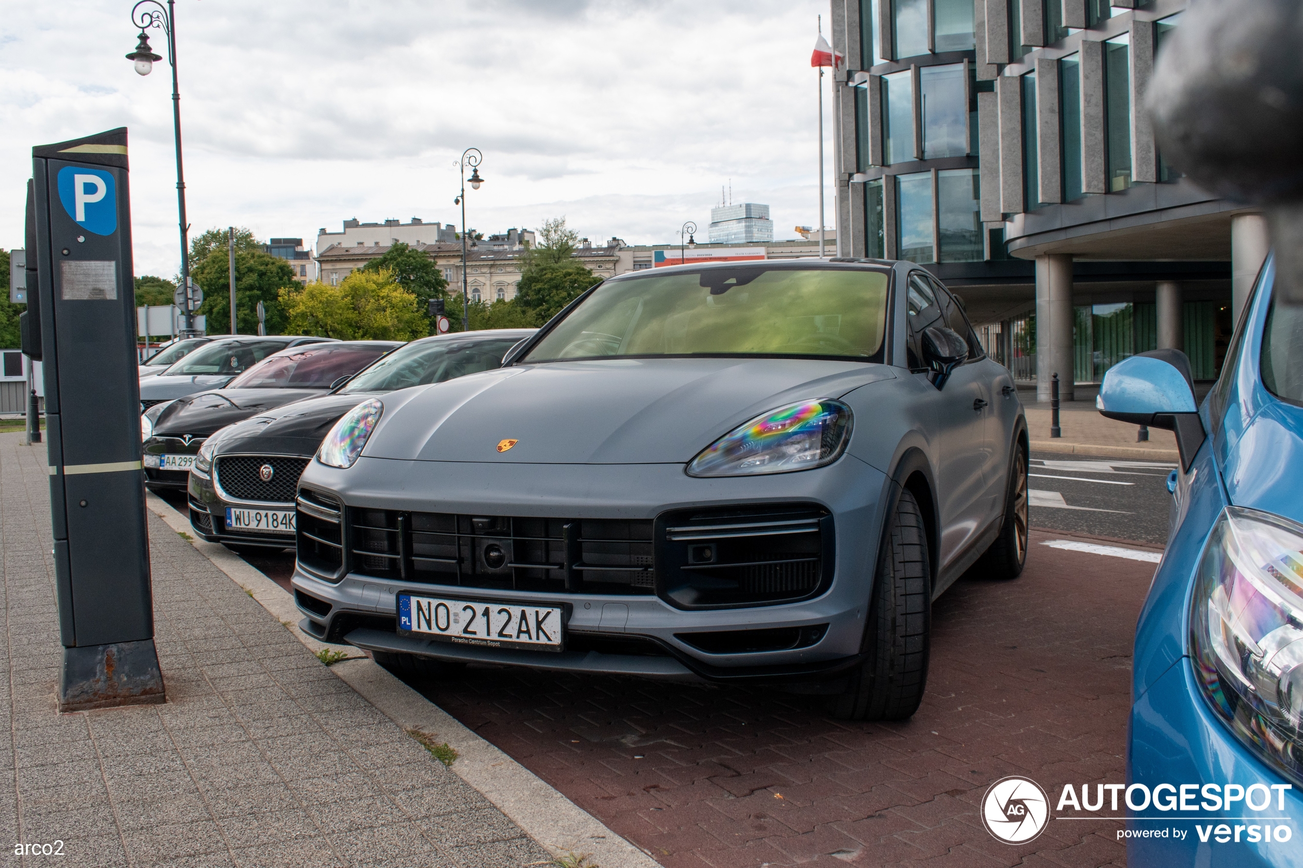
<instances>
[{"instance_id":1,"label":"grey Porsche's right-hand headlight with rainbow reflections","mask_svg":"<svg viewBox=\"0 0 1303 868\"><path fill-rule=\"evenodd\" d=\"M801 401L734 428L688 465L689 476L749 476L822 467L851 439L851 409L840 401Z\"/></svg>"}]
</instances>

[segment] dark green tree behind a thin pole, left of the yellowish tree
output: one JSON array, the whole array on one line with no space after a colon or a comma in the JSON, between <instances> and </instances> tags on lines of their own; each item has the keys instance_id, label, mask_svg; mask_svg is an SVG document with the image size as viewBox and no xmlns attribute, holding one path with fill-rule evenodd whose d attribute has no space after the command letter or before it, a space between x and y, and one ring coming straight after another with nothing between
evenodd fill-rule
<instances>
[{"instance_id":1,"label":"dark green tree behind a thin pole, left of the yellowish tree","mask_svg":"<svg viewBox=\"0 0 1303 868\"><path fill-rule=\"evenodd\" d=\"M207 233L205 233L207 234ZM227 250L214 250L190 276L203 289L199 314L207 316L208 334L231 331L231 269ZM241 334L258 333L258 302L267 311L267 334L283 334L285 311L280 290L298 286L288 262L261 250L236 251L236 327Z\"/></svg>"}]
</instances>

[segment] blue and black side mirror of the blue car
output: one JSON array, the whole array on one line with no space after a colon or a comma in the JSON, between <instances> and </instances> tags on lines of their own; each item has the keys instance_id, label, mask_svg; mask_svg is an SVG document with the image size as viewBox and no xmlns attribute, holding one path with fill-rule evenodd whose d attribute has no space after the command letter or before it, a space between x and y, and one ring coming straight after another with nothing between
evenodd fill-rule
<instances>
[{"instance_id":1,"label":"blue and black side mirror of the blue car","mask_svg":"<svg viewBox=\"0 0 1303 868\"><path fill-rule=\"evenodd\" d=\"M1181 350L1149 350L1114 364L1095 406L1109 419L1174 432L1182 470L1190 470L1205 439L1190 359Z\"/></svg>"}]
</instances>

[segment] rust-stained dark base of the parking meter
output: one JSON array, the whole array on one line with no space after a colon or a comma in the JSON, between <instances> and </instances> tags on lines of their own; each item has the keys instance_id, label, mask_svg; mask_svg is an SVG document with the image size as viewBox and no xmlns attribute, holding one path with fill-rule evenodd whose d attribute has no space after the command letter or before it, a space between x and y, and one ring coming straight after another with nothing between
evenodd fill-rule
<instances>
[{"instance_id":1,"label":"rust-stained dark base of the parking meter","mask_svg":"<svg viewBox=\"0 0 1303 868\"><path fill-rule=\"evenodd\" d=\"M152 639L64 648L59 711L165 703Z\"/></svg>"}]
</instances>

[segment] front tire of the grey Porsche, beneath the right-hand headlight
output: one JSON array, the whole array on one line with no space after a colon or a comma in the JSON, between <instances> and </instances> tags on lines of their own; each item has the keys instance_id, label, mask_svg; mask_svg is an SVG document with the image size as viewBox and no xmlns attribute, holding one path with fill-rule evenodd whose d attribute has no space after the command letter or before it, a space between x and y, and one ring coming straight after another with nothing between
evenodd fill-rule
<instances>
[{"instance_id":1,"label":"front tire of the grey Porsche, beneath the right-hand headlight","mask_svg":"<svg viewBox=\"0 0 1303 868\"><path fill-rule=\"evenodd\" d=\"M902 491L882 536L861 651L829 711L844 720L896 721L915 713L928 682L932 570L919 502Z\"/></svg>"}]
</instances>

